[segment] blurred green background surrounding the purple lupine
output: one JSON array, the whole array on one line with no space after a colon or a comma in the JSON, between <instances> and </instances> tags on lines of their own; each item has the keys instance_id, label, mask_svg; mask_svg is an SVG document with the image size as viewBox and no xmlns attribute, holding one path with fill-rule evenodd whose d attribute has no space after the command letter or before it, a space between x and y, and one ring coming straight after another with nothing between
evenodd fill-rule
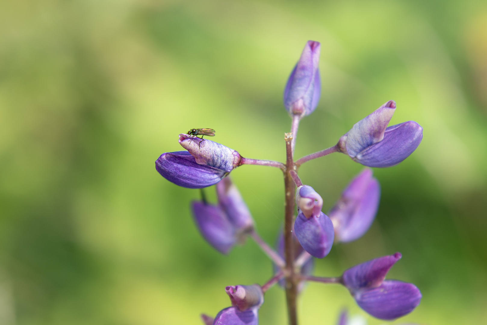
<instances>
[{"instance_id":1,"label":"blurred green background surrounding the purple lupine","mask_svg":"<svg viewBox=\"0 0 487 325\"><path fill-rule=\"evenodd\" d=\"M197 190L154 168L177 135L284 160L282 90L321 42L321 101L296 156L337 142L389 99L424 128L400 165L375 169L376 221L316 263L335 276L400 251L389 277L421 305L394 324L487 324L487 3L452 1L0 1L0 324L201 325L227 285L264 283L248 241L222 256L193 225ZM328 210L361 166L343 154L300 170ZM281 172L232 172L262 237L283 218ZM214 190L208 189L214 200ZM340 286L310 284L300 324L368 317ZM274 287L262 325L286 324Z\"/></svg>"}]
</instances>

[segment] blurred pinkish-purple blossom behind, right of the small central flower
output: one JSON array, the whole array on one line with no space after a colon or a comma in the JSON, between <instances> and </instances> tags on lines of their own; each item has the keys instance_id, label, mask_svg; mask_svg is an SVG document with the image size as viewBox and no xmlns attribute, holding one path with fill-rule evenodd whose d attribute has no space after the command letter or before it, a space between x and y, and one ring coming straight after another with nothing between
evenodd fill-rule
<instances>
[{"instance_id":1,"label":"blurred pinkish-purple blossom behind, right of the small central flower","mask_svg":"<svg viewBox=\"0 0 487 325\"><path fill-rule=\"evenodd\" d=\"M366 168L345 188L328 214L335 229L335 241L351 242L365 234L374 222L379 199L379 183Z\"/></svg>"}]
</instances>

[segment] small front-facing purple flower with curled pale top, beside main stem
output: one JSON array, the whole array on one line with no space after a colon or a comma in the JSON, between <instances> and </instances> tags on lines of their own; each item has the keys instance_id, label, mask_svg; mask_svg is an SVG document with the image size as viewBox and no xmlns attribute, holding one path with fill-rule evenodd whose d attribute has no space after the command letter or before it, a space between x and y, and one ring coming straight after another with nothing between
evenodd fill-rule
<instances>
[{"instance_id":1,"label":"small front-facing purple flower with curled pale top, beside main stem","mask_svg":"<svg viewBox=\"0 0 487 325\"><path fill-rule=\"evenodd\" d=\"M335 233L332 221L321 212L321 196L311 186L300 186L296 191L296 205L299 214L294 229L301 246L314 257L325 257L332 249Z\"/></svg>"}]
</instances>

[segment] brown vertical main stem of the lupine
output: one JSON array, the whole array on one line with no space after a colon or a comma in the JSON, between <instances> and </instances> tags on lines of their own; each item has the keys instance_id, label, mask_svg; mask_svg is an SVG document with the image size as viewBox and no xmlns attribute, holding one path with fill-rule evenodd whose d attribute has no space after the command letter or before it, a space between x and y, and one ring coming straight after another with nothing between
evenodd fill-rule
<instances>
[{"instance_id":1,"label":"brown vertical main stem of the lupine","mask_svg":"<svg viewBox=\"0 0 487 325\"><path fill-rule=\"evenodd\" d=\"M295 205L295 183L289 171L294 171L291 133L284 134L286 141L286 172L284 173L285 216L284 216L284 257L286 260L286 301L289 325L298 325L296 300L298 296L297 276L294 271L293 218Z\"/></svg>"}]
</instances>

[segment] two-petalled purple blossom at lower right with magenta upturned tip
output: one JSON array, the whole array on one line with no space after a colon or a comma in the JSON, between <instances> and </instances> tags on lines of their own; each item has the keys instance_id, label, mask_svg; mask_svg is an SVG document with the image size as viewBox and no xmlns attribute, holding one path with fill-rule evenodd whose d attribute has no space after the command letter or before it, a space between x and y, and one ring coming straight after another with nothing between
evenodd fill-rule
<instances>
[{"instance_id":1,"label":"two-petalled purple blossom at lower right with magenta upturned tip","mask_svg":"<svg viewBox=\"0 0 487 325\"><path fill-rule=\"evenodd\" d=\"M393 320L404 316L421 301L421 292L411 283L384 280L401 253L383 256L343 272L342 282L358 306L376 318Z\"/></svg>"}]
</instances>

